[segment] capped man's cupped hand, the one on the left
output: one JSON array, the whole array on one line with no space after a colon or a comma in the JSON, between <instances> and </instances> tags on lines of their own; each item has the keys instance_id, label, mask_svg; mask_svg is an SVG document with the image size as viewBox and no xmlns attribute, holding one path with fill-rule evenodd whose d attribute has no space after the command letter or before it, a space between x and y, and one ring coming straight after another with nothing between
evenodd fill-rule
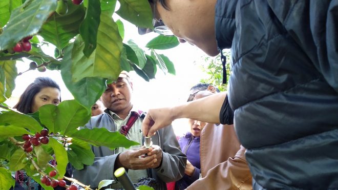
<instances>
[{"instance_id":1,"label":"capped man's cupped hand, the one on the left","mask_svg":"<svg viewBox=\"0 0 338 190\"><path fill-rule=\"evenodd\" d=\"M146 168L152 168L157 162L157 155L154 154L152 156L143 157L144 154L150 153L151 151L151 149L145 149L144 146L136 150L124 151L118 155L116 159L116 166L132 170L145 170Z\"/></svg>"}]
</instances>

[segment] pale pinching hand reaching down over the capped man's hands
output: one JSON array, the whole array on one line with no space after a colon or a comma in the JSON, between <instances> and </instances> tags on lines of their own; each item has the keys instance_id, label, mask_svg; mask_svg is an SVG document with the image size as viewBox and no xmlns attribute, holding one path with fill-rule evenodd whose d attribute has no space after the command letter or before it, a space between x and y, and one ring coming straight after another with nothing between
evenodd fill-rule
<instances>
[{"instance_id":1,"label":"pale pinching hand reaching down over the capped man's hands","mask_svg":"<svg viewBox=\"0 0 338 190\"><path fill-rule=\"evenodd\" d=\"M172 108L150 109L142 122L143 136L151 137L173 122Z\"/></svg>"}]
</instances>

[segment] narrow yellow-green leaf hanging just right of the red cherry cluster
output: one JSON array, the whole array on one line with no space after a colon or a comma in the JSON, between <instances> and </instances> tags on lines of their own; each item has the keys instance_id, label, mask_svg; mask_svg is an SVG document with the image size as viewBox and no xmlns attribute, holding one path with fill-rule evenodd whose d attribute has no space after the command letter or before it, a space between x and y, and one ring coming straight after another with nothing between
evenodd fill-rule
<instances>
[{"instance_id":1,"label":"narrow yellow-green leaf hanging just right of the red cherry cluster","mask_svg":"<svg viewBox=\"0 0 338 190\"><path fill-rule=\"evenodd\" d=\"M53 137L49 137L49 143L52 146L55 154L55 160L57 162L57 171L59 176L64 176L66 173L66 167L68 163L67 151L59 141Z\"/></svg>"}]
</instances>

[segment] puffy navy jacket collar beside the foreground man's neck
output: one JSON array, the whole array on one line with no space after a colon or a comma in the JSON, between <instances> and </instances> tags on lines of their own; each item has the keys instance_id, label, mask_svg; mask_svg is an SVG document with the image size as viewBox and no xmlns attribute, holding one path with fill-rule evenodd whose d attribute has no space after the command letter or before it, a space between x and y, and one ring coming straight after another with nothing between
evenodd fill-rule
<instances>
[{"instance_id":1,"label":"puffy navy jacket collar beside the foreground man's neck","mask_svg":"<svg viewBox=\"0 0 338 190\"><path fill-rule=\"evenodd\" d=\"M218 0L215 6L215 31L217 46L231 48L236 30L235 13L238 0Z\"/></svg>"}]
</instances>

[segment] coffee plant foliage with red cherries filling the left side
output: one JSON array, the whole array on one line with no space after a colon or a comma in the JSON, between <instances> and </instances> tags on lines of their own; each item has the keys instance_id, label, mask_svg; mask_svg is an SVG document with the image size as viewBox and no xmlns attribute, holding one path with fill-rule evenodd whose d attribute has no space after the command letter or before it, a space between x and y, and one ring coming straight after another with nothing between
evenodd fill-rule
<instances>
[{"instance_id":1,"label":"coffee plant foliage with red cherries filling the left side","mask_svg":"<svg viewBox=\"0 0 338 190\"><path fill-rule=\"evenodd\" d=\"M138 27L153 28L147 0L0 1L0 189L14 186L11 172L18 170L53 189L50 185L64 178L67 163L78 170L93 163L90 145L115 149L138 144L118 132L79 127L88 122L91 106L122 70L135 71L146 81L155 78L157 69L175 74L173 63L154 49L172 48L178 41L158 36L146 46L150 53L133 40L123 43L125 29L114 14ZM45 54L43 44L54 45L55 55ZM32 61L30 70L60 70L75 99L43 105L33 114L6 105L15 78L22 74L16 69L22 58ZM51 165L51 159L57 165Z\"/></svg>"}]
</instances>

